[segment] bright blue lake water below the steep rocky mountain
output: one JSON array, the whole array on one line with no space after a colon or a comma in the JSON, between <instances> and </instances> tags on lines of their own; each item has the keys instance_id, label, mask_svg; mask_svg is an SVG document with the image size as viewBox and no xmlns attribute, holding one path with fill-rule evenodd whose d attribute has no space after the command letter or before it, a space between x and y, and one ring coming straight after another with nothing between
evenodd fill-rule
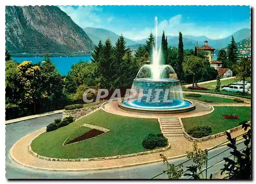
<instances>
[{"instance_id":1,"label":"bright blue lake water below the steep rocky mountain","mask_svg":"<svg viewBox=\"0 0 256 184\"><path fill-rule=\"evenodd\" d=\"M38 63L44 61L44 57L13 57L18 63L23 61L32 61ZM76 57L51 57L51 61L55 64L57 70L61 75L67 75L71 71L71 66L79 61L91 62L91 56L76 56Z\"/></svg>"}]
</instances>

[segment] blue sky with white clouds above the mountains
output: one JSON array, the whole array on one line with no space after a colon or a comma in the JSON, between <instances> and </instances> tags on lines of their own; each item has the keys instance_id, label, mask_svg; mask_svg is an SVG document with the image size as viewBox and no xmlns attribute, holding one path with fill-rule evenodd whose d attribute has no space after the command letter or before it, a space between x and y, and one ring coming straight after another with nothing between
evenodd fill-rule
<instances>
[{"instance_id":1,"label":"blue sky with white clouds above the mountains","mask_svg":"<svg viewBox=\"0 0 256 184\"><path fill-rule=\"evenodd\" d=\"M104 28L139 40L154 31L158 34L227 37L250 28L248 6L59 6L81 28Z\"/></svg>"}]
</instances>

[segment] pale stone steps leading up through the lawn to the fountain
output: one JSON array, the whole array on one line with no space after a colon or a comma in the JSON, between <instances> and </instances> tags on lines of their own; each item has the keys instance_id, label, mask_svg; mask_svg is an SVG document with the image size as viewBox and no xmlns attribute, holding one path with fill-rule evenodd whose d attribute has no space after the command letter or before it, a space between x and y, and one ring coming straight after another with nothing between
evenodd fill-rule
<instances>
[{"instance_id":1,"label":"pale stone steps leading up through the lawn to the fountain","mask_svg":"<svg viewBox=\"0 0 256 184\"><path fill-rule=\"evenodd\" d=\"M164 136L184 136L178 118L160 118L159 123Z\"/></svg>"}]
</instances>

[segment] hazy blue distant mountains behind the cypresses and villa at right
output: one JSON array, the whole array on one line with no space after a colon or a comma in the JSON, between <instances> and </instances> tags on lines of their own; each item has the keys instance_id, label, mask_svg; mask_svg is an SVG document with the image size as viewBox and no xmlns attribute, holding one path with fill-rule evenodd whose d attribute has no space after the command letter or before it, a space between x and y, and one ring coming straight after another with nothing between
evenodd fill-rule
<instances>
[{"instance_id":1,"label":"hazy blue distant mountains behind the cypresses and villa at right","mask_svg":"<svg viewBox=\"0 0 256 184\"><path fill-rule=\"evenodd\" d=\"M234 37L234 40L236 42L239 42L243 39L249 38L251 36L250 32L251 32L250 29L242 29L232 35ZM167 38L168 38L169 46L178 47L178 43L179 43L178 36L167 36ZM162 39L162 37L158 36L158 45L161 44L161 39ZM199 47L201 47L202 45L204 45L205 39L208 40L208 44L211 47L213 47L215 49L221 49L221 48L225 48L230 43L231 35L226 38L222 38L222 39L210 39L210 38L207 38L206 36L183 35L184 49L195 49L197 41L198 41ZM138 40L137 43L145 44L146 39Z\"/></svg>"}]
</instances>

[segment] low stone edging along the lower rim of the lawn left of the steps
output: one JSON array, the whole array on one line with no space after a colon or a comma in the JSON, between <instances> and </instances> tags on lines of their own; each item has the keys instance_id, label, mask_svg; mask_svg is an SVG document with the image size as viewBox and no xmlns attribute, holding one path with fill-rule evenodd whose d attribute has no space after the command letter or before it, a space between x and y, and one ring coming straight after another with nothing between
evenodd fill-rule
<instances>
[{"instance_id":1,"label":"low stone edging along the lower rim of the lawn left of the steps","mask_svg":"<svg viewBox=\"0 0 256 184\"><path fill-rule=\"evenodd\" d=\"M139 152L139 153L132 153L132 154L126 154L126 155L116 155L116 156L106 156L106 157L95 157L95 158L77 158L77 159L68 159L68 158L51 158L51 157L46 157L46 156L41 156L35 153L31 145L29 145L29 153L32 154L33 156L40 158L40 159L45 159L45 160L50 160L50 161L60 161L60 162L85 162L85 161L93 161L93 160L106 160L106 159L115 159L115 158L124 158L124 157L131 157L131 156L138 156L138 155L144 155L144 154L150 154L150 153L157 153L157 152L162 152L170 149L170 144L168 144L167 147L152 150L152 151L144 151L144 152Z\"/></svg>"}]
</instances>

